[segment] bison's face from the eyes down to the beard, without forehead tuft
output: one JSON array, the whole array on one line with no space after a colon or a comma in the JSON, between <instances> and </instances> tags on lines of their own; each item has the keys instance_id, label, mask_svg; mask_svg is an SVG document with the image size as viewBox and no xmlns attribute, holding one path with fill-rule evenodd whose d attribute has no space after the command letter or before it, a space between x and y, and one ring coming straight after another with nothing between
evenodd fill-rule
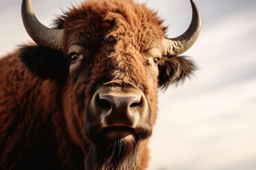
<instances>
[{"instance_id":1,"label":"bison's face from the eyes down to the beard, without forehead tuft","mask_svg":"<svg viewBox=\"0 0 256 170\"><path fill-rule=\"evenodd\" d=\"M132 45L116 48L119 43L106 43L93 55L84 46L68 50L72 106L85 114L81 124L91 143L88 169L137 169L141 141L152 132L161 50L140 53Z\"/></svg>"}]
</instances>

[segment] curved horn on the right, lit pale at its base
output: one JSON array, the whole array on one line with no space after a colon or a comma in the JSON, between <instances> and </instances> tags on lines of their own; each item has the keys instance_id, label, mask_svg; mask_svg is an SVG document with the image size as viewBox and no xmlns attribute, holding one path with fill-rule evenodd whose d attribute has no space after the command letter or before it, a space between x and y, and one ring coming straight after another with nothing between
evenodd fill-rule
<instances>
[{"instance_id":1,"label":"curved horn on the right, lit pale at its base","mask_svg":"<svg viewBox=\"0 0 256 170\"><path fill-rule=\"evenodd\" d=\"M185 52L191 47L195 40L198 38L201 29L201 17L200 13L195 6L195 3L190 0L193 16L192 21L187 31L177 38L164 38L164 53L163 55L176 56Z\"/></svg>"}]
</instances>

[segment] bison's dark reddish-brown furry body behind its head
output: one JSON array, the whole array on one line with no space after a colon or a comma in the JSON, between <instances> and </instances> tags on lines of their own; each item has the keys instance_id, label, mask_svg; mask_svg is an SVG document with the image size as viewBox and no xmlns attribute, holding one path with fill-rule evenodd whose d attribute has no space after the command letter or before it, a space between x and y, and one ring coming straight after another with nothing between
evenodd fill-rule
<instances>
[{"instance_id":1,"label":"bison's dark reddish-brown furry body behind its head","mask_svg":"<svg viewBox=\"0 0 256 170\"><path fill-rule=\"evenodd\" d=\"M36 160L44 156L36 153L43 149L52 149L49 155L45 153L49 159L59 157L63 167L76 169L74 162L68 161L72 161L74 153L81 156L83 153L65 132L67 127L59 107L61 100L57 98L61 97L62 89L55 82L42 81L33 75L16 56L17 52L12 53L0 62L1 169L34 169L40 166L39 169L43 169L44 163L51 163L51 160ZM30 167L33 161L39 164ZM61 164L52 165L52 168Z\"/></svg>"}]
</instances>

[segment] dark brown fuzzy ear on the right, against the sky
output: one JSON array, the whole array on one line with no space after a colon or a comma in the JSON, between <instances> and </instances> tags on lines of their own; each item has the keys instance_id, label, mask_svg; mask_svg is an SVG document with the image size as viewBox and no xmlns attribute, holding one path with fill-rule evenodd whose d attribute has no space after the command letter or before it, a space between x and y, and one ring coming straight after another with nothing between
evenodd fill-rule
<instances>
[{"instance_id":1,"label":"dark brown fuzzy ear on the right, against the sky","mask_svg":"<svg viewBox=\"0 0 256 170\"><path fill-rule=\"evenodd\" d=\"M166 89L170 84L183 82L195 71L196 66L189 57L164 57L159 61L159 87Z\"/></svg>"}]
</instances>

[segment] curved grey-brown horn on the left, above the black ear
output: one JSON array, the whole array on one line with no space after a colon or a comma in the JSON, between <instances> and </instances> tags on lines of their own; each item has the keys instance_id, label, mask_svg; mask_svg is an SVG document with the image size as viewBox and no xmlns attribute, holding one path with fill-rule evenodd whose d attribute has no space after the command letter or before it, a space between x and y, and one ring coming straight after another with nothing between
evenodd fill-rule
<instances>
[{"instance_id":1,"label":"curved grey-brown horn on the left, above the black ear","mask_svg":"<svg viewBox=\"0 0 256 170\"><path fill-rule=\"evenodd\" d=\"M41 24L34 14L31 0L23 0L22 7L22 20L29 36L41 46L46 46L51 49L61 50L63 45L63 30L62 29L49 29Z\"/></svg>"}]
</instances>

